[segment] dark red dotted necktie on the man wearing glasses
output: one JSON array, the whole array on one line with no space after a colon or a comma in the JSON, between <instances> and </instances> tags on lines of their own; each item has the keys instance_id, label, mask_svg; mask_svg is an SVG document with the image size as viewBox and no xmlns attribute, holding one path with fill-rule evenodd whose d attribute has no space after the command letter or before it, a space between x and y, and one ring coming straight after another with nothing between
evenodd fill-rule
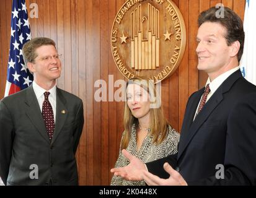
<instances>
[{"instance_id":1,"label":"dark red dotted necktie on the man wearing glasses","mask_svg":"<svg viewBox=\"0 0 256 198\"><path fill-rule=\"evenodd\" d=\"M43 93L45 95L45 101L43 101L43 121L45 122L46 131L50 140L53 138L53 131L55 130L55 123L54 123L54 115L53 115L53 108L51 107L51 103L48 100L50 92Z\"/></svg>"}]
</instances>

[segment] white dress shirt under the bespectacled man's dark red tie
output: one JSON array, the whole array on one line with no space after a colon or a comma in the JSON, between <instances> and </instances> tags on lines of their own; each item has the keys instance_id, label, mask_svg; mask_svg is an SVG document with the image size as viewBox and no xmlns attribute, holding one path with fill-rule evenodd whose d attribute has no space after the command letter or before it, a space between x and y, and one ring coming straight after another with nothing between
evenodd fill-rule
<instances>
[{"instance_id":1,"label":"white dress shirt under the bespectacled man's dark red tie","mask_svg":"<svg viewBox=\"0 0 256 198\"><path fill-rule=\"evenodd\" d=\"M54 87L50 90L46 91L44 88L40 87L35 81L33 81L32 87L37 97L41 113L43 109L43 101L45 101L45 95L43 95L43 93L50 92L48 100L50 101L51 107L53 108L54 121L56 121L56 85L54 85Z\"/></svg>"}]
</instances>

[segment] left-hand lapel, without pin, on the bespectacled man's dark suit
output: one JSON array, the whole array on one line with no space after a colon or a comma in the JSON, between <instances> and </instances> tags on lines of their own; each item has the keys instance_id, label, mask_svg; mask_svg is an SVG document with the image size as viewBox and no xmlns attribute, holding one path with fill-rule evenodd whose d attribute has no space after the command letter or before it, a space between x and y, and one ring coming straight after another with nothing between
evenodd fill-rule
<instances>
[{"instance_id":1,"label":"left-hand lapel, without pin, on the bespectacled man's dark suit","mask_svg":"<svg viewBox=\"0 0 256 198\"><path fill-rule=\"evenodd\" d=\"M50 144L50 139L46 133L45 123L43 122L40 106L38 105L37 97L35 96L32 86L27 88L25 104L25 108L27 109L26 114L30 121L37 128L37 131L46 140L46 142Z\"/></svg>"}]
</instances>

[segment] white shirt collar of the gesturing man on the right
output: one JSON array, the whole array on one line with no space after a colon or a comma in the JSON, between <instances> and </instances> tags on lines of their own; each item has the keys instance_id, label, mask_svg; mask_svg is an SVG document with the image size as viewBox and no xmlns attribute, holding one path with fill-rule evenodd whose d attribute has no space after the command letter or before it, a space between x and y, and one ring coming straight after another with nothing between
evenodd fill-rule
<instances>
[{"instance_id":1,"label":"white shirt collar of the gesturing man on the right","mask_svg":"<svg viewBox=\"0 0 256 198\"><path fill-rule=\"evenodd\" d=\"M213 94L219 88L219 86L221 84L223 84L223 82L229 77L229 75L233 74L234 72L236 72L239 69L240 69L240 67L238 66L229 71L226 71L223 74L216 77L216 79L214 79L212 82L211 82L210 78L208 77L206 85L209 84L211 94Z\"/></svg>"}]
</instances>

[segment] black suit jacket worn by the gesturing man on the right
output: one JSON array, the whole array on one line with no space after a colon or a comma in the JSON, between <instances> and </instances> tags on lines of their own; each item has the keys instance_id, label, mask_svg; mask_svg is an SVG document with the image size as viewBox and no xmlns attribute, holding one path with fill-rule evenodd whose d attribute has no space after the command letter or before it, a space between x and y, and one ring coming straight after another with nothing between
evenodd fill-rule
<instances>
[{"instance_id":1,"label":"black suit jacket worn by the gesturing man on the right","mask_svg":"<svg viewBox=\"0 0 256 198\"><path fill-rule=\"evenodd\" d=\"M170 161L188 185L256 184L255 86L234 72L193 121L203 90L188 99L177 155L148 163L148 170L168 178L162 165ZM224 179L216 178L216 165L224 165Z\"/></svg>"}]
</instances>

